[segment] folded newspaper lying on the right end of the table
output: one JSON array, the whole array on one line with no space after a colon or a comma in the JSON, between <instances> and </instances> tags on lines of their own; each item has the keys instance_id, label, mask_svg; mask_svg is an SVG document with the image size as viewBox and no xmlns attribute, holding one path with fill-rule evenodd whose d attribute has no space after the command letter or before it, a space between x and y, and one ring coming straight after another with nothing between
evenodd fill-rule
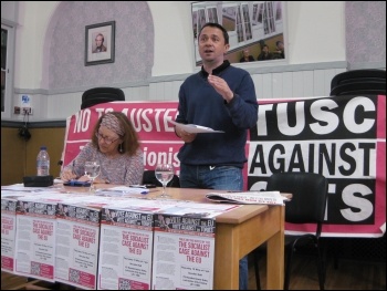
<instances>
[{"instance_id":1,"label":"folded newspaper lying on the right end of the table","mask_svg":"<svg viewBox=\"0 0 387 291\"><path fill-rule=\"evenodd\" d=\"M216 202L283 205L280 191L209 193L207 199Z\"/></svg>"}]
</instances>

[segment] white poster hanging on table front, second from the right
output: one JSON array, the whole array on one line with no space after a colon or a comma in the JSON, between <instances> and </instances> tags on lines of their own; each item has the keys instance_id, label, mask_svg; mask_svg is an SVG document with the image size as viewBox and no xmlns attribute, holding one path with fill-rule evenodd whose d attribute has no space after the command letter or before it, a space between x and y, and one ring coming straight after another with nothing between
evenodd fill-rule
<instances>
[{"instance_id":1,"label":"white poster hanging on table front, second from the right","mask_svg":"<svg viewBox=\"0 0 387 291\"><path fill-rule=\"evenodd\" d=\"M153 225L153 211L102 209L98 290L150 290Z\"/></svg>"}]
</instances>

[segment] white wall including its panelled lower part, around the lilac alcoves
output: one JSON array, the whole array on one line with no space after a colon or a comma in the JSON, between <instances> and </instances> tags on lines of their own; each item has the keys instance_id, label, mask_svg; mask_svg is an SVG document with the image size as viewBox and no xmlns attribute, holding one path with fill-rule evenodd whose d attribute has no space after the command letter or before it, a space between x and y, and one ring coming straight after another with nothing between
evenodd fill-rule
<instances>
[{"instance_id":1,"label":"white wall including its panelled lower part, around the lilac alcoves","mask_svg":"<svg viewBox=\"0 0 387 291\"><path fill-rule=\"evenodd\" d=\"M178 98L184 80L198 70L194 61L190 2L148 1L155 24L155 60L150 80L112 84L122 87L127 101ZM252 76L258 98L328 96L332 77L346 71L345 2L285 1L286 59L275 65L262 62L234 64ZM44 90L42 54L51 17L60 1L20 1L17 28L17 67L13 105L21 95L31 97L30 122L64 121L80 110L84 89ZM286 28L285 28L286 29ZM63 40L63 45L71 45ZM289 56L289 58L287 58ZM381 69L381 67L380 67ZM7 119L7 117L2 117ZM12 121L22 115L11 113Z\"/></svg>"}]
</instances>

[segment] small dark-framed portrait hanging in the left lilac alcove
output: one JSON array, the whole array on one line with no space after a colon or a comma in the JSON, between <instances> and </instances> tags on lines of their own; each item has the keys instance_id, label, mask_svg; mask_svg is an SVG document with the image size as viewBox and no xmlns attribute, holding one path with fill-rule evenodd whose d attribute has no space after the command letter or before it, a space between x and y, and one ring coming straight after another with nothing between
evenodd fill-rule
<instances>
[{"instance_id":1,"label":"small dark-framed portrait hanging in the left lilac alcove","mask_svg":"<svg viewBox=\"0 0 387 291\"><path fill-rule=\"evenodd\" d=\"M86 25L85 65L114 63L115 21Z\"/></svg>"}]
</instances>

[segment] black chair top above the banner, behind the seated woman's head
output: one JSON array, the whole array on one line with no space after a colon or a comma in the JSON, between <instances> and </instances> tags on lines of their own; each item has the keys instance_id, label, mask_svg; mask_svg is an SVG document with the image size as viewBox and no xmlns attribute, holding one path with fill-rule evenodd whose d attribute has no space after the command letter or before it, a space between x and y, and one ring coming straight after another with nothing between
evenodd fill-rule
<instances>
[{"instance_id":1,"label":"black chair top above the banner, behind the seated woman's head","mask_svg":"<svg viewBox=\"0 0 387 291\"><path fill-rule=\"evenodd\" d=\"M93 87L82 94L81 110L112 101L125 101L124 91L118 87Z\"/></svg>"}]
</instances>

